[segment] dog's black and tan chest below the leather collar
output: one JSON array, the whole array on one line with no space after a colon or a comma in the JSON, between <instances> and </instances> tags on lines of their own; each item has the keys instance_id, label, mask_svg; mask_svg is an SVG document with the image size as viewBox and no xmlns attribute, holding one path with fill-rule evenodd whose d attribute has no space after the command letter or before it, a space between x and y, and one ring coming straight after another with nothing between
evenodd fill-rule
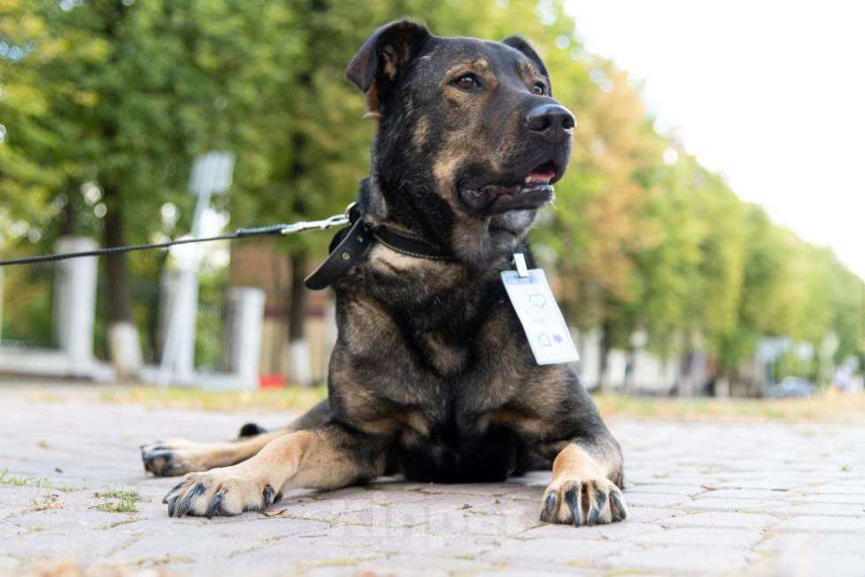
<instances>
[{"instance_id":1,"label":"dog's black and tan chest below the leather collar","mask_svg":"<svg viewBox=\"0 0 865 577\"><path fill-rule=\"evenodd\" d=\"M471 446L537 368L501 282L366 280L338 292L331 384L345 416L393 423L429 454Z\"/></svg>"}]
</instances>

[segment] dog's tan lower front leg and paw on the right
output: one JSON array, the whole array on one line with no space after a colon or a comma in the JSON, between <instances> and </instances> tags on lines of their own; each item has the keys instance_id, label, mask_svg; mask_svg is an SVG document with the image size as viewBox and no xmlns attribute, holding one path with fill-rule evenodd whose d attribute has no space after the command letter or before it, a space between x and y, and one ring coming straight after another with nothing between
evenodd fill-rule
<instances>
[{"instance_id":1,"label":"dog's tan lower front leg and paw on the right","mask_svg":"<svg viewBox=\"0 0 865 577\"><path fill-rule=\"evenodd\" d=\"M622 488L622 458L612 437L566 442L553 461L541 520L575 526L621 521L627 518Z\"/></svg>"}]
</instances>

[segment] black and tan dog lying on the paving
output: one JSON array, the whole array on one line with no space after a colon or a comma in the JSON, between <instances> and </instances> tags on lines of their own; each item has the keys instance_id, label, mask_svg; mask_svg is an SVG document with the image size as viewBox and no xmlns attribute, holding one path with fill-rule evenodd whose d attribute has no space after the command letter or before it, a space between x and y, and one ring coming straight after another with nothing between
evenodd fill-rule
<instances>
[{"instance_id":1,"label":"black and tan dog lying on the paving","mask_svg":"<svg viewBox=\"0 0 865 577\"><path fill-rule=\"evenodd\" d=\"M187 473L168 514L236 515L292 488L381 475L495 481L551 467L542 520L625 519L619 444L573 366L535 363L499 277L528 254L526 231L571 152L573 115L541 58L518 37L399 21L363 43L347 77L378 119L363 218L448 258L378 243L333 282L329 399L292 425L144 446L148 471Z\"/></svg>"}]
</instances>

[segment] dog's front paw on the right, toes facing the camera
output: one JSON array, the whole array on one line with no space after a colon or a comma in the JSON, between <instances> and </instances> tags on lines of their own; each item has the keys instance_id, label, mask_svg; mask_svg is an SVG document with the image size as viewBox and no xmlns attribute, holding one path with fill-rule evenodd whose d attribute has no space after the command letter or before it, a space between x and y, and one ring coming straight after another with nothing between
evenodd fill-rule
<instances>
[{"instance_id":1,"label":"dog's front paw on the right, toes facing the camera","mask_svg":"<svg viewBox=\"0 0 865 577\"><path fill-rule=\"evenodd\" d=\"M611 480L563 476L543 492L541 520L592 526L627 518L625 499Z\"/></svg>"}]
</instances>

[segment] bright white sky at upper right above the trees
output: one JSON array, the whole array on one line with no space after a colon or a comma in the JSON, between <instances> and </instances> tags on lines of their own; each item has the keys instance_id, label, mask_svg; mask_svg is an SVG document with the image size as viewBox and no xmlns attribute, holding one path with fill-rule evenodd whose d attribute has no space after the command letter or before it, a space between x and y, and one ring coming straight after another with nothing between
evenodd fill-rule
<instances>
[{"instance_id":1,"label":"bright white sky at upper right above the trees","mask_svg":"<svg viewBox=\"0 0 865 577\"><path fill-rule=\"evenodd\" d=\"M662 130L865 277L865 2L565 2Z\"/></svg>"}]
</instances>

